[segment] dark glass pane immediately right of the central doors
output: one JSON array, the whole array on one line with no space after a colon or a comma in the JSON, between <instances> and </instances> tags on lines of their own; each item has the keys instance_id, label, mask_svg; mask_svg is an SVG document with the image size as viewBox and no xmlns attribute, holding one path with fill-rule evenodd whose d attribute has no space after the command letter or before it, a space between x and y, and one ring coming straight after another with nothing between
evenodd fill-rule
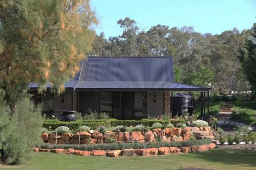
<instances>
[{"instance_id":1,"label":"dark glass pane immediately right of the central doors","mask_svg":"<svg viewBox=\"0 0 256 170\"><path fill-rule=\"evenodd\" d=\"M146 118L146 92L134 92L134 118Z\"/></svg>"}]
</instances>

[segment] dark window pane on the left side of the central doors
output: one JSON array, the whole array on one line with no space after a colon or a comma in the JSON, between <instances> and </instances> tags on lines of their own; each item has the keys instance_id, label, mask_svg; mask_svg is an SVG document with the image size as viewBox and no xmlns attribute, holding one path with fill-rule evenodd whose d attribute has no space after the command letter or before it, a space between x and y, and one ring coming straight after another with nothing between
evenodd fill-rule
<instances>
[{"instance_id":1,"label":"dark window pane on the left side of the central doors","mask_svg":"<svg viewBox=\"0 0 256 170\"><path fill-rule=\"evenodd\" d=\"M112 92L100 92L99 111L112 113Z\"/></svg>"}]
</instances>

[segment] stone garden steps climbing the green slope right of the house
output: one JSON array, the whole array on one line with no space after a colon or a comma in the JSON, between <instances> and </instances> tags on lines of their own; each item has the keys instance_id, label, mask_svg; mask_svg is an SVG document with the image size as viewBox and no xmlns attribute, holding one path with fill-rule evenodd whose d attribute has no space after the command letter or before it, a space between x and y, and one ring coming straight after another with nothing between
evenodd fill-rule
<instances>
[{"instance_id":1,"label":"stone garden steps climbing the green slope right of the house","mask_svg":"<svg viewBox=\"0 0 256 170\"><path fill-rule=\"evenodd\" d=\"M216 114L218 120L225 120L229 121L232 117L232 112L234 110L232 105L221 105L220 106L221 112Z\"/></svg>"}]
</instances>

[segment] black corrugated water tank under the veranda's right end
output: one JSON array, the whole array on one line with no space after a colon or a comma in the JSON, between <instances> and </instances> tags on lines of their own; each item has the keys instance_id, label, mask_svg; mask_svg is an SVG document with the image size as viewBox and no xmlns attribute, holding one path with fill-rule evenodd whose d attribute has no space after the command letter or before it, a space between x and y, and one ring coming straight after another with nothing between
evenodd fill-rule
<instances>
[{"instance_id":1,"label":"black corrugated water tank under the veranda's right end","mask_svg":"<svg viewBox=\"0 0 256 170\"><path fill-rule=\"evenodd\" d=\"M170 107L172 108L173 116L182 115L183 113L188 112L188 106L192 105L192 98L190 95L177 93L173 96L170 96Z\"/></svg>"}]
</instances>

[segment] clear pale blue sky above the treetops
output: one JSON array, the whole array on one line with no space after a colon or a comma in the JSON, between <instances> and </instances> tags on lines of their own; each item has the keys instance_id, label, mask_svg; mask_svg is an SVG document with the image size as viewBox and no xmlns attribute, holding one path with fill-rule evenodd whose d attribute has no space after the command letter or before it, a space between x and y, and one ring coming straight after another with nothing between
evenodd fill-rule
<instances>
[{"instance_id":1,"label":"clear pale blue sky above the treetops","mask_svg":"<svg viewBox=\"0 0 256 170\"><path fill-rule=\"evenodd\" d=\"M130 17L148 30L158 24L193 27L196 32L220 34L234 27L242 31L256 22L256 0L91 0L99 25L96 33L117 36L117 20Z\"/></svg>"}]
</instances>

